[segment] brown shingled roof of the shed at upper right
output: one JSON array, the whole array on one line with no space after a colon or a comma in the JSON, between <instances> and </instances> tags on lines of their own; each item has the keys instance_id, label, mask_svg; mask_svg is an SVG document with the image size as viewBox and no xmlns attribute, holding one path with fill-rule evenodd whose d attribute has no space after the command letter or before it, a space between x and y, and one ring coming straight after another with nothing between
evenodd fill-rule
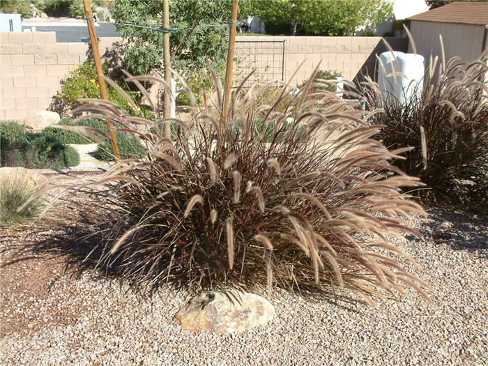
<instances>
[{"instance_id":1,"label":"brown shingled roof of the shed at upper right","mask_svg":"<svg viewBox=\"0 0 488 366\"><path fill-rule=\"evenodd\" d=\"M488 24L488 2L454 1L408 19L425 22L486 25Z\"/></svg>"}]
</instances>

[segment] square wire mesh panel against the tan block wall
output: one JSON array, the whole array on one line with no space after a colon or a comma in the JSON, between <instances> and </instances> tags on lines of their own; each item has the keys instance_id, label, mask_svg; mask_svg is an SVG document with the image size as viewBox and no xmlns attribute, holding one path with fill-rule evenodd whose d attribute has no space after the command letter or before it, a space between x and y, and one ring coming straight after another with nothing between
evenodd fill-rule
<instances>
[{"instance_id":1,"label":"square wire mesh panel against the tan block wall","mask_svg":"<svg viewBox=\"0 0 488 366\"><path fill-rule=\"evenodd\" d=\"M239 82L254 68L250 82L284 80L284 40L236 40L234 82Z\"/></svg>"}]
</instances>

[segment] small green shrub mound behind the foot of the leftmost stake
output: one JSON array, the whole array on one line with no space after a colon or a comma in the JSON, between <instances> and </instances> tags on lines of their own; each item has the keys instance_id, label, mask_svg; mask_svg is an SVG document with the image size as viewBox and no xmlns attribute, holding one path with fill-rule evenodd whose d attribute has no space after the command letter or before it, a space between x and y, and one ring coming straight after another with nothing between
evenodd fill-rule
<instances>
[{"instance_id":1,"label":"small green shrub mound behind the foot of the leftmost stake","mask_svg":"<svg viewBox=\"0 0 488 366\"><path fill-rule=\"evenodd\" d=\"M146 148L142 146L139 137L116 131L115 138L122 158L142 159L147 156ZM98 144L98 155L96 158L107 162L113 161L115 158L112 153L112 145L110 144L109 139L107 137L102 137L102 140L105 144Z\"/></svg>"}]
</instances>

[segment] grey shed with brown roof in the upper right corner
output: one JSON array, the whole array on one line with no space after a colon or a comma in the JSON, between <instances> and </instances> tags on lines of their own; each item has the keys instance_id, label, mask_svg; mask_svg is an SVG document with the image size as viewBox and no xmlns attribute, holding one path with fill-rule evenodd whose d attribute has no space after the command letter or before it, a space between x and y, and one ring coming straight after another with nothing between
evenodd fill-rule
<instances>
[{"instance_id":1,"label":"grey shed with brown roof in the upper right corner","mask_svg":"<svg viewBox=\"0 0 488 366\"><path fill-rule=\"evenodd\" d=\"M443 38L446 62L454 56L475 61L487 49L488 2L455 1L409 20L417 53L426 60L431 54L441 57L439 35ZM409 52L413 52L412 45Z\"/></svg>"}]
</instances>

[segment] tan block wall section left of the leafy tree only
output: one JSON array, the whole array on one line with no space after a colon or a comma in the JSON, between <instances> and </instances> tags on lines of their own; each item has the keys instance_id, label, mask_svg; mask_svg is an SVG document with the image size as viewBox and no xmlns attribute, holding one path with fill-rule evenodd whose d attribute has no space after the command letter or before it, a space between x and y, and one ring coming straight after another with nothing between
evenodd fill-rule
<instances>
[{"instance_id":1,"label":"tan block wall section left of the leafy tree only","mask_svg":"<svg viewBox=\"0 0 488 366\"><path fill-rule=\"evenodd\" d=\"M100 38L100 52L121 38ZM86 59L86 43L56 43L55 32L0 33L0 120L49 107L68 71Z\"/></svg>"}]
</instances>

